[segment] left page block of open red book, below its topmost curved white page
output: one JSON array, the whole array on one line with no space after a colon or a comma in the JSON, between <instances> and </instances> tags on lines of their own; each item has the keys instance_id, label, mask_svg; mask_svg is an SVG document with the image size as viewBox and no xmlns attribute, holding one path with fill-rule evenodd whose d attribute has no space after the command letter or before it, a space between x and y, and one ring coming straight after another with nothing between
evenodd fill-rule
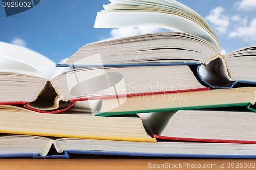
<instances>
[{"instance_id":1,"label":"left page block of open red book, below its topmost curved white page","mask_svg":"<svg viewBox=\"0 0 256 170\"><path fill-rule=\"evenodd\" d=\"M46 75L38 69L13 58L0 56L1 104L32 102L44 89L47 81Z\"/></svg>"}]
</instances>

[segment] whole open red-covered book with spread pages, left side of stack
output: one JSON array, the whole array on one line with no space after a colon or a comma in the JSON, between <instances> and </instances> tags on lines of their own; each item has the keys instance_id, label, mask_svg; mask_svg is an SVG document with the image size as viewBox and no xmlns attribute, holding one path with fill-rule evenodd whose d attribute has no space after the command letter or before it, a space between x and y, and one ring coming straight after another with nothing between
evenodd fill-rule
<instances>
[{"instance_id":1,"label":"whole open red-covered book with spread pages, left side of stack","mask_svg":"<svg viewBox=\"0 0 256 170\"><path fill-rule=\"evenodd\" d=\"M0 104L23 104L42 113L61 112L88 99L209 90L188 65L56 68L36 52L3 42L0 70Z\"/></svg>"}]
</instances>

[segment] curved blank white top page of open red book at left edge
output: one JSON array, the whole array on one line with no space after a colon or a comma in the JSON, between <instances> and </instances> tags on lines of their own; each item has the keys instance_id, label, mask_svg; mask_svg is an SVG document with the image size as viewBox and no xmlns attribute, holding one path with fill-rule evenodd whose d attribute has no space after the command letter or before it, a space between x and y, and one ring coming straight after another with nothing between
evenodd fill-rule
<instances>
[{"instance_id":1,"label":"curved blank white top page of open red book at left edge","mask_svg":"<svg viewBox=\"0 0 256 170\"><path fill-rule=\"evenodd\" d=\"M55 70L55 63L45 56L13 44L0 42L0 57L27 64L42 72L48 80Z\"/></svg>"}]
</instances>

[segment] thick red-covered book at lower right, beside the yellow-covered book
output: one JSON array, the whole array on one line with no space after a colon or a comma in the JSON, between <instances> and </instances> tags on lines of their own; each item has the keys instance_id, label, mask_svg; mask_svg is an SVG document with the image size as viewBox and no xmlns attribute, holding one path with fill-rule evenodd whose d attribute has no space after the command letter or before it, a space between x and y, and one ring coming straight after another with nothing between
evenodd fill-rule
<instances>
[{"instance_id":1,"label":"thick red-covered book at lower right, beside the yellow-covered book","mask_svg":"<svg viewBox=\"0 0 256 170\"><path fill-rule=\"evenodd\" d=\"M256 114L249 110L179 110L139 116L159 139L256 144Z\"/></svg>"}]
</instances>

